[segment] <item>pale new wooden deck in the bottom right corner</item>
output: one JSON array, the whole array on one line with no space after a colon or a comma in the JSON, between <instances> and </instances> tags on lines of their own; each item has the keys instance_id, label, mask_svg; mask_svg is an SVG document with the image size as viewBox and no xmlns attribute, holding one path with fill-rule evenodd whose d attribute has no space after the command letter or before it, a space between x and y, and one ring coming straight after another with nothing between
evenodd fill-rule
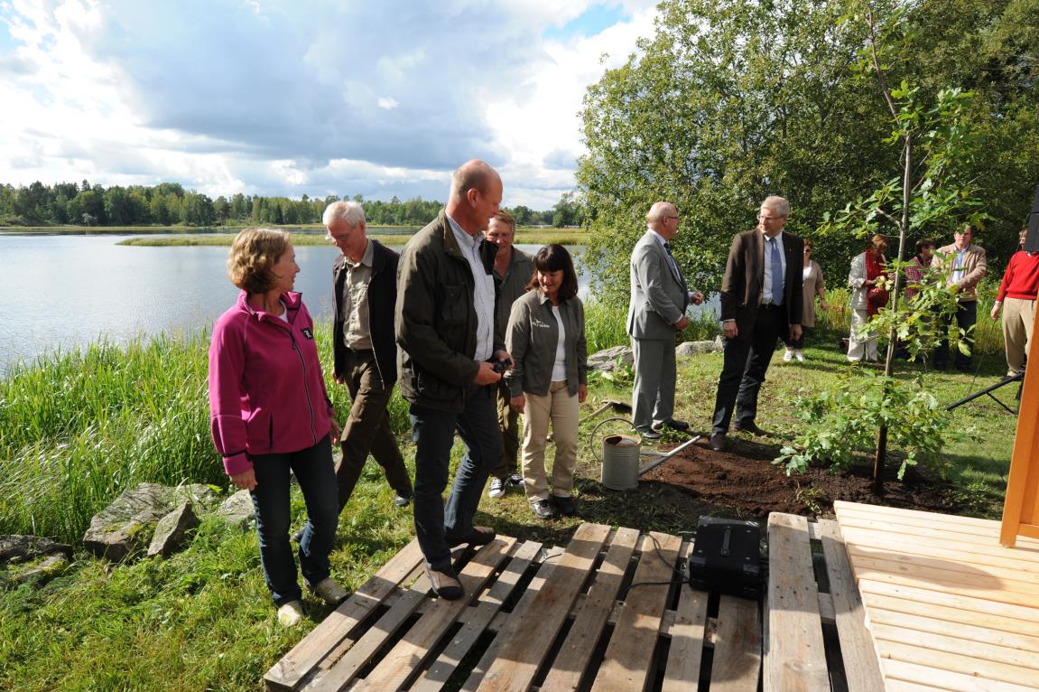
<instances>
[{"instance_id":1,"label":"pale new wooden deck in the bottom right corner","mask_svg":"<svg viewBox=\"0 0 1039 692\"><path fill-rule=\"evenodd\" d=\"M886 688L1039 690L1039 540L1000 524L835 503Z\"/></svg>"}]
</instances>

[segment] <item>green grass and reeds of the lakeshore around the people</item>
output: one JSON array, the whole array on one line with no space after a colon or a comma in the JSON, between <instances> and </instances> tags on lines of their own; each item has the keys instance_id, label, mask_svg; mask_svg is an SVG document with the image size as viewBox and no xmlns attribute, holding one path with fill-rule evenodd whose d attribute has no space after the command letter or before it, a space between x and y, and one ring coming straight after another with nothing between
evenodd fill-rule
<instances>
[{"instance_id":1,"label":"green grass and reeds of the lakeshore around the people","mask_svg":"<svg viewBox=\"0 0 1039 692\"><path fill-rule=\"evenodd\" d=\"M833 302L840 305L835 296ZM590 304L587 312L594 349L627 343L621 308ZM837 324L841 316L835 310L824 319ZM707 323L697 328L717 329ZM807 363L774 360L762 392L763 426L792 436L793 399L831 387L849 371L835 345L843 334L840 327L810 331ZM329 336L326 325L319 330L324 363ZM977 377L928 372L925 387L951 402L993 382L1004 368L1002 351L979 360ZM676 416L694 429L709 427L721 364L720 353L678 361ZM920 370L909 366L899 376ZM95 511L143 480L227 488L209 438L205 381L204 338L96 345L17 370L0 382L0 533L75 542ZM593 378L582 414L607 400L629 400L630 384L624 371L612 380ZM329 392L345 415L345 389L329 383ZM1008 391L1004 398L1012 396ZM606 416L581 425L577 495L584 520L673 533L693 528L700 511L726 511L656 483L605 490L588 434ZM940 472L969 513L997 518L1015 419L987 400L952 416L961 434L947 446ZM414 471L406 406L396 394L391 418ZM393 508L391 500L380 470L370 463L343 512L331 556L332 573L351 588L412 535L410 511ZM304 509L298 496L293 503L298 524ZM478 514L480 524L550 545L565 544L580 521L537 522L514 491L484 499ZM312 598L307 609L304 626L278 629L256 537L209 522L190 548L168 560L113 567L78 553L69 571L41 590L0 587L0 689L255 690L264 671L329 611Z\"/></svg>"}]
</instances>

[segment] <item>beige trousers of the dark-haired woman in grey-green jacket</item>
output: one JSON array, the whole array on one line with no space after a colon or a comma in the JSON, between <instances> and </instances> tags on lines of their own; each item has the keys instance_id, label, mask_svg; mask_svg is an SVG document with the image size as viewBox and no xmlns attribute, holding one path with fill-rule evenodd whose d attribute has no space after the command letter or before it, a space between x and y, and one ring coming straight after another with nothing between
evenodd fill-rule
<instances>
[{"instance_id":1,"label":"beige trousers of the dark-haired woman in grey-green jacket","mask_svg":"<svg viewBox=\"0 0 1039 692\"><path fill-rule=\"evenodd\" d=\"M552 423L556 458L552 463L552 495L570 497L574 470L578 464L578 420L580 405L575 394L566 393L564 380L549 384L544 396L524 392L527 399L523 431L523 481L527 501L549 499L549 483L544 473L544 449L548 446L549 423Z\"/></svg>"}]
</instances>

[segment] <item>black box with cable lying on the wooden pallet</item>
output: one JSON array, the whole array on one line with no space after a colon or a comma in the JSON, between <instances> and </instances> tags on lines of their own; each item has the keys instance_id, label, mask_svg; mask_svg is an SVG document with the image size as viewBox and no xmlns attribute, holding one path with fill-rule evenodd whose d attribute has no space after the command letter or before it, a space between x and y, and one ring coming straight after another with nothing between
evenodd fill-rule
<instances>
[{"instance_id":1,"label":"black box with cable lying on the wooden pallet","mask_svg":"<svg viewBox=\"0 0 1039 692\"><path fill-rule=\"evenodd\" d=\"M763 582L762 527L756 522L701 516L689 557L689 584L703 591L757 598Z\"/></svg>"}]
</instances>

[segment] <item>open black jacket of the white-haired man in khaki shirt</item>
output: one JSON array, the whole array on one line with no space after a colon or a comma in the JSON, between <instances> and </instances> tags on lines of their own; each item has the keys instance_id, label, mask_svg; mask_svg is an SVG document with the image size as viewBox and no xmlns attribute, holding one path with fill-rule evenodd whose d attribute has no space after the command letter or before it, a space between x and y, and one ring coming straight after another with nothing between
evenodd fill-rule
<instances>
[{"instance_id":1,"label":"open black jacket of the white-haired man in khaki shirt","mask_svg":"<svg viewBox=\"0 0 1039 692\"><path fill-rule=\"evenodd\" d=\"M372 335L372 351L375 366L379 370L382 384L387 389L397 381L397 340L394 336L393 311L397 302L397 252L379 241L368 239L375 247L372 255L372 277L368 282L368 329ZM340 255L331 266L332 298L336 313L332 318L331 343L337 377L346 375L346 342L343 341L343 324L349 315L344 314L343 284L349 267L346 258Z\"/></svg>"}]
</instances>

